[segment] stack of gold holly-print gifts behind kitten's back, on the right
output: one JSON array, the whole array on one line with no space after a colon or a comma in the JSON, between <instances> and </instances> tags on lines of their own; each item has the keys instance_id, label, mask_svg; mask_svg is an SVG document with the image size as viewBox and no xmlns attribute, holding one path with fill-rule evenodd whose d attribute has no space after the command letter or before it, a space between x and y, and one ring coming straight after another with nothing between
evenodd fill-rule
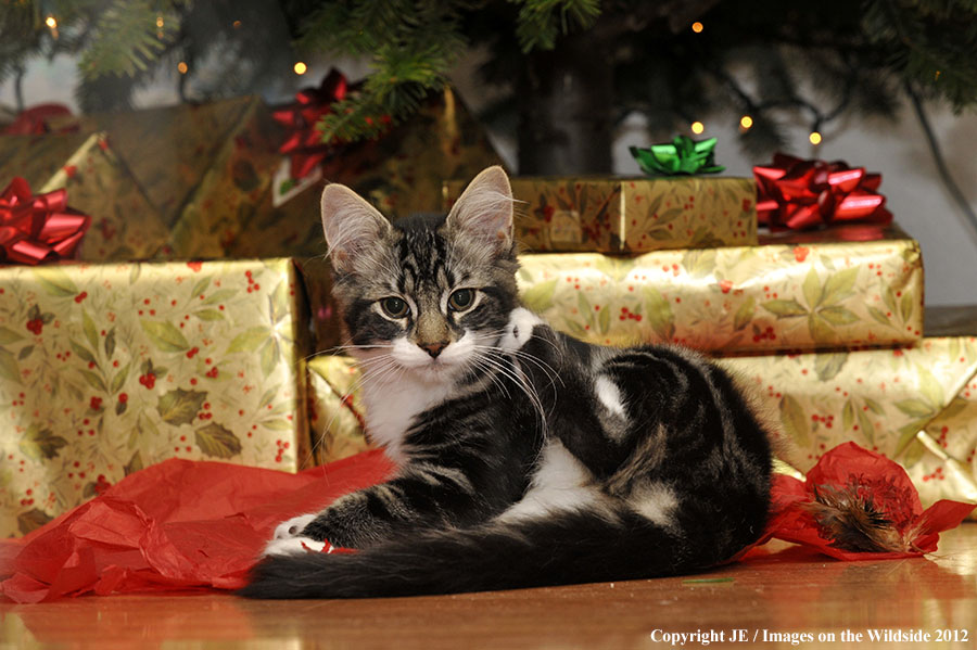
<instances>
[{"instance_id":1,"label":"stack of gold holly-print gifts behind kitten's back, on the right","mask_svg":"<svg viewBox=\"0 0 977 650\"><path fill-rule=\"evenodd\" d=\"M445 183L445 207L464 184ZM754 387L801 472L854 441L901 462L924 501L977 500L977 339L924 337L923 259L901 230L757 235L747 179L516 178L512 188L524 202L517 237L530 244L520 290L551 324L595 343L715 356ZM702 221L713 230L690 240ZM309 370L319 449L360 449L355 368L322 357Z\"/></svg>"}]
</instances>

